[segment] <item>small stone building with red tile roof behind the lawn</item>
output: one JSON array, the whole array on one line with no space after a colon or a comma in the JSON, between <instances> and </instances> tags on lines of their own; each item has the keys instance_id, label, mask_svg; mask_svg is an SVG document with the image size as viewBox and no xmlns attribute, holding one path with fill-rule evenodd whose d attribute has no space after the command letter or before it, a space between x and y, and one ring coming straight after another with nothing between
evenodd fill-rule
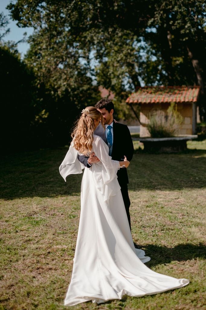
<instances>
[{"instance_id":1,"label":"small stone building with red tile roof behind the lawn","mask_svg":"<svg viewBox=\"0 0 206 310\"><path fill-rule=\"evenodd\" d=\"M197 101L200 86L145 86L138 87L135 93L127 98L127 104L132 107L140 105L140 137L150 136L145 124L154 110L166 113L171 102L177 104L177 111L182 115L183 122L179 125L178 135L194 135L198 117Z\"/></svg>"}]
</instances>

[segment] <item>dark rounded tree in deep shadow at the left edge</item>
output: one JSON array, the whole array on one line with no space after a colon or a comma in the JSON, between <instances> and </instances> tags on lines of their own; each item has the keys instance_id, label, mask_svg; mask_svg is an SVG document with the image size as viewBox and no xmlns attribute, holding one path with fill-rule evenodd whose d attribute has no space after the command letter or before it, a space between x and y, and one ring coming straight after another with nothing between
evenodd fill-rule
<instances>
[{"instance_id":1,"label":"dark rounded tree in deep shadow at the left edge","mask_svg":"<svg viewBox=\"0 0 206 310\"><path fill-rule=\"evenodd\" d=\"M34 142L35 107L33 74L9 46L0 44L2 150L25 149Z\"/></svg>"}]
</instances>

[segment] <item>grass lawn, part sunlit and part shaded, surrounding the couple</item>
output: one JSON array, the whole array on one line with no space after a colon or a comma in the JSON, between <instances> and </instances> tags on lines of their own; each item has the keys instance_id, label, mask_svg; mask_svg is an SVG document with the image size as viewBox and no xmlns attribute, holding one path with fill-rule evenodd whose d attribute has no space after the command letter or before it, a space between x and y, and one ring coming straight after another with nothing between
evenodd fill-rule
<instances>
[{"instance_id":1,"label":"grass lawn, part sunlit and part shaded, surrounding the couple","mask_svg":"<svg viewBox=\"0 0 206 310\"><path fill-rule=\"evenodd\" d=\"M69 309L205 309L206 140L178 154L137 149L129 166L133 239L147 266L191 283L152 296L82 303ZM61 310L71 277L82 175L64 182L66 148L1 160L0 310Z\"/></svg>"}]
</instances>

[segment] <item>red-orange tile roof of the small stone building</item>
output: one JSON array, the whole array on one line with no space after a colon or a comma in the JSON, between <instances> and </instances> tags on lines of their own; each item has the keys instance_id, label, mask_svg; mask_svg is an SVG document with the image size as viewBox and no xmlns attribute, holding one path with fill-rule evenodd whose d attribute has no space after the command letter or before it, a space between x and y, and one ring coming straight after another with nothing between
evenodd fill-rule
<instances>
[{"instance_id":1,"label":"red-orange tile roof of the small stone building","mask_svg":"<svg viewBox=\"0 0 206 310\"><path fill-rule=\"evenodd\" d=\"M192 103L198 99L200 86L145 86L138 87L127 98L130 103Z\"/></svg>"}]
</instances>

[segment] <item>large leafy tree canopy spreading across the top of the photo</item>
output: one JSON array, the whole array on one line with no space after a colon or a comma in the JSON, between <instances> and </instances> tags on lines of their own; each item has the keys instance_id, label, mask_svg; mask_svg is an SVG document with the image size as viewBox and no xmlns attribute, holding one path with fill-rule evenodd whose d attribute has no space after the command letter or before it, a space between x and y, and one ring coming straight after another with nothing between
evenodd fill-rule
<instances>
[{"instance_id":1,"label":"large leafy tree canopy spreading across the top of the photo","mask_svg":"<svg viewBox=\"0 0 206 310\"><path fill-rule=\"evenodd\" d=\"M141 80L147 85L198 83L201 115L206 115L204 0L17 0L9 9L19 26L35 28L34 44L47 33L41 52L59 46L56 59L71 55L74 67L84 67L84 75L119 98ZM57 70L58 61L51 64Z\"/></svg>"}]
</instances>

